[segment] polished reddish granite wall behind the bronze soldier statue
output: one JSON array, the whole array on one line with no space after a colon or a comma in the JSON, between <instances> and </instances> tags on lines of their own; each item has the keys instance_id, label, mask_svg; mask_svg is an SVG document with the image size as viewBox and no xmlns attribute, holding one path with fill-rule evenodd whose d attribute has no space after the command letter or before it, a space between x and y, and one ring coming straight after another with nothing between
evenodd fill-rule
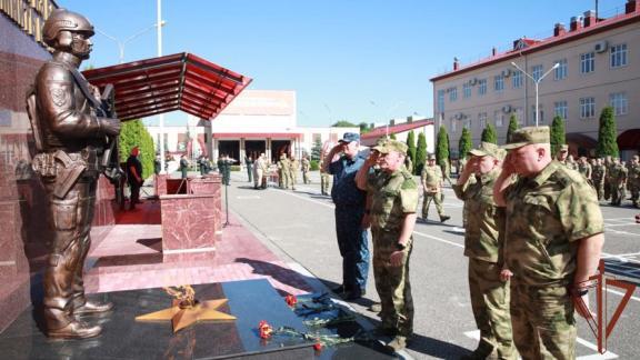
<instances>
[{"instance_id":1,"label":"polished reddish granite wall behind the bronze soldier statue","mask_svg":"<svg viewBox=\"0 0 640 360\"><path fill-rule=\"evenodd\" d=\"M24 110L27 89L48 59L49 52L0 14L0 331L31 303L31 282L51 237L46 196L31 171L33 138ZM113 198L113 188L101 178L94 242L114 223Z\"/></svg>"}]
</instances>

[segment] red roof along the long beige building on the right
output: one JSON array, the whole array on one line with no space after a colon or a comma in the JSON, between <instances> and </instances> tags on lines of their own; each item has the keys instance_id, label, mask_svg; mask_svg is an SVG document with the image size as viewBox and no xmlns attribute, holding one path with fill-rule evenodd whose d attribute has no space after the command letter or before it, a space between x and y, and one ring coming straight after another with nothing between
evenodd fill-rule
<instances>
[{"instance_id":1,"label":"red roof along the long beige building on the right","mask_svg":"<svg viewBox=\"0 0 640 360\"><path fill-rule=\"evenodd\" d=\"M630 23L634 23L640 21L640 7L636 8L634 11L618 14L608 19L599 19L596 23L590 24L588 27L582 27L570 30L567 29L564 32L561 32L557 36L551 36L549 38L542 40L534 40L534 39L520 39L514 41L514 47L511 50L496 53L489 58L482 59L478 62L473 62L467 66L461 66L457 70L446 72L439 76L431 78L432 82L443 80L447 78L451 78L454 76L459 76L464 72L473 71L487 66L491 66L494 63L499 63L502 61L507 61L510 59L519 58L523 54L530 54L533 52L542 51L549 49L551 47L559 46L561 43L577 41L579 39L583 39L586 37L590 37L603 31L608 31L611 29L620 28ZM522 43L524 44L522 47Z\"/></svg>"}]
</instances>

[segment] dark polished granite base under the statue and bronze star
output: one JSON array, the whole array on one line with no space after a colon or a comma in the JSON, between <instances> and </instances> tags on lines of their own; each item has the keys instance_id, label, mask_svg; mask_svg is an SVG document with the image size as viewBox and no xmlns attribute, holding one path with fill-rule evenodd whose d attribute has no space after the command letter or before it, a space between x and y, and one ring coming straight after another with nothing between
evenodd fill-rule
<instances>
[{"instance_id":1,"label":"dark polished granite base under the statue and bronze star","mask_svg":"<svg viewBox=\"0 0 640 360\"><path fill-rule=\"evenodd\" d=\"M313 343L301 339L261 341L258 323L304 330L267 280L194 286L199 300L229 299L220 311L236 321L199 322L172 332L169 321L138 322L136 317L169 308L171 298L159 288L99 294L114 311L87 317L102 334L87 340L50 340L40 331L40 316L28 309L0 334L3 359L313 359Z\"/></svg>"}]
</instances>

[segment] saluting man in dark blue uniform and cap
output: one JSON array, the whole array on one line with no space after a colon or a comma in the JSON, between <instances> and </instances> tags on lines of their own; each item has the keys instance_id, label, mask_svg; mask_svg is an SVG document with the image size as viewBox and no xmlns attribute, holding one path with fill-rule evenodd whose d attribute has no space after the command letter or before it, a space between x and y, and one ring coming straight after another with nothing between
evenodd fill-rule
<instances>
[{"instance_id":1,"label":"saluting man in dark blue uniform and cap","mask_svg":"<svg viewBox=\"0 0 640 360\"><path fill-rule=\"evenodd\" d=\"M356 173L364 163L359 147L360 134L347 132L322 162L322 170L333 176L331 198L336 204L336 233L342 256L342 286L333 291L346 300L364 294L369 270L367 228L362 226L366 192L356 187ZM340 157L333 161L337 156Z\"/></svg>"}]
</instances>

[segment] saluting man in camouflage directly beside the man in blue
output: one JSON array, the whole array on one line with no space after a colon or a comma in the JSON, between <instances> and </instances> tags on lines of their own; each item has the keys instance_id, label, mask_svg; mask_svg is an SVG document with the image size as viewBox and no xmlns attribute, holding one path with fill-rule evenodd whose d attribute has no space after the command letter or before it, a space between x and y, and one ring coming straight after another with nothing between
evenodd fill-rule
<instances>
[{"instance_id":1,"label":"saluting man in camouflage directly beside the man in blue","mask_svg":"<svg viewBox=\"0 0 640 360\"><path fill-rule=\"evenodd\" d=\"M373 238L373 274L382 306L378 331L393 336L387 347L398 351L406 348L413 336L409 258L419 191L413 176L403 167L406 143L389 140L373 149L379 153L381 173L370 177L367 188L371 193L368 210Z\"/></svg>"}]
</instances>

